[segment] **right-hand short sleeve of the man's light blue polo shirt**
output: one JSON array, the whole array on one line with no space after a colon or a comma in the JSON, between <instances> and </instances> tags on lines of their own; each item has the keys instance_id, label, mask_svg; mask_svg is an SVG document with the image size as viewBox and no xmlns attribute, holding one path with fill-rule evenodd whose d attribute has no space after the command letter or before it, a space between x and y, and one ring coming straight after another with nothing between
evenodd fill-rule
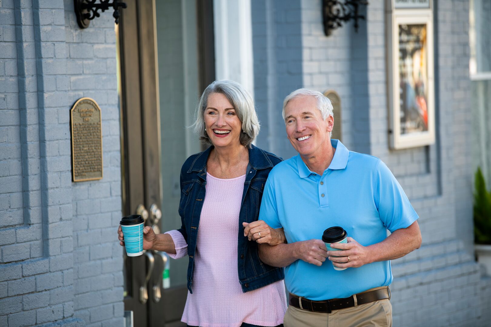
<instances>
[{"instance_id":1,"label":"right-hand short sleeve of the man's light blue polo shirt","mask_svg":"<svg viewBox=\"0 0 491 327\"><path fill-rule=\"evenodd\" d=\"M390 232L407 228L419 218L396 177L382 161L377 167L375 186L375 204L383 225Z\"/></svg>"}]
</instances>

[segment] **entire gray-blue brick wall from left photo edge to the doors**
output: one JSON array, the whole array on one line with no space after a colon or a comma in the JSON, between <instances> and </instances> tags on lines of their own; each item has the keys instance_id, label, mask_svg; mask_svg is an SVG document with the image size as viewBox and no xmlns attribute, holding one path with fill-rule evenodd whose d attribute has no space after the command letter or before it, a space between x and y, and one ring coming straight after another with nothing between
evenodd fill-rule
<instances>
[{"instance_id":1,"label":"entire gray-blue brick wall from left photo edge to the doors","mask_svg":"<svg viewBox=\"0 0 491 327\"><path fill-rule=\"evenodd\" d=\"M0 1L0 326L122 326L119 107L111 15ZM104 178L71 181L70 108L102 110Z\"/></svg>"}]
</instances>

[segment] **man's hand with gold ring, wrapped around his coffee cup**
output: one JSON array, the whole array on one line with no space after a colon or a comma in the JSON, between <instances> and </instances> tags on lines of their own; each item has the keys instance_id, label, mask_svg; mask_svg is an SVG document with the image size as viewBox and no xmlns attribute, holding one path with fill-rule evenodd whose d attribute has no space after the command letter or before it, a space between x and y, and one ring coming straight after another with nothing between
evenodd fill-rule
<instances>
[{"instance_id":1,"label":"man's hand with gold ring, wrapped around his coffee cup","mask_svg":"<svg viewBox=\"0 0 491 327\"><path fill-rule=\"evenodd\" d=\"M356 242L352 237L347 238L348 243L331 243L333 249L341 251L328 251L327 259L332 261L332 265L338 268L361 267L373 262L371 251ZM349 258L349 259L348 259Z\"/></svg>"}]
</instances>

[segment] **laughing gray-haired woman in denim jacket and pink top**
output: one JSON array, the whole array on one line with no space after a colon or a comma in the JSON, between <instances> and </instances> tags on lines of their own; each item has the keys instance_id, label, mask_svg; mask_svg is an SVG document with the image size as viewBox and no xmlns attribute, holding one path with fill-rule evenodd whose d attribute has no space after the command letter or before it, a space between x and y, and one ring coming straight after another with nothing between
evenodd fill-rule
<instances>
[{"instance_id":1,"label":"laughing gray-haired woman in denim jacket and pink top","mask_svg":"<svg viewBox=\"0 0 491 327\"><path fill-rule=\"evenodd\" d=\"M205 89L193 127L211 146L181 169L182 227L164 234L145 227L143 249L189 256L182 317L188 326L280 325L284 273L259 259L257 243L276 245L285 237L257 218L268 174L281 159L252 145L259 121L251 96L236 82ZM123 241L121 227L118 234Z\"/></svg>"}]
</instances>

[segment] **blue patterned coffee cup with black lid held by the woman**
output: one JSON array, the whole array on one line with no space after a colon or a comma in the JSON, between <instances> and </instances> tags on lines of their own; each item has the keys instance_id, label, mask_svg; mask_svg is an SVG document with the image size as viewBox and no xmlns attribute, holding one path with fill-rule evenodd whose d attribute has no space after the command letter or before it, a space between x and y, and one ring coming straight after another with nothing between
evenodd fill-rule
<instances>
[{"instance_id":1,"label":"blue patterned coffee cup with black lid held by the woman","mask_svg":"<svg viewBox=\"0 0 491 327\"><path fill-rule=\"evenodd\" d=\"M119 222L123 230L124 247L128 256L143 254L143 225L145 222L140 215L123 217Z\"/></svg>"}]
</instances>

